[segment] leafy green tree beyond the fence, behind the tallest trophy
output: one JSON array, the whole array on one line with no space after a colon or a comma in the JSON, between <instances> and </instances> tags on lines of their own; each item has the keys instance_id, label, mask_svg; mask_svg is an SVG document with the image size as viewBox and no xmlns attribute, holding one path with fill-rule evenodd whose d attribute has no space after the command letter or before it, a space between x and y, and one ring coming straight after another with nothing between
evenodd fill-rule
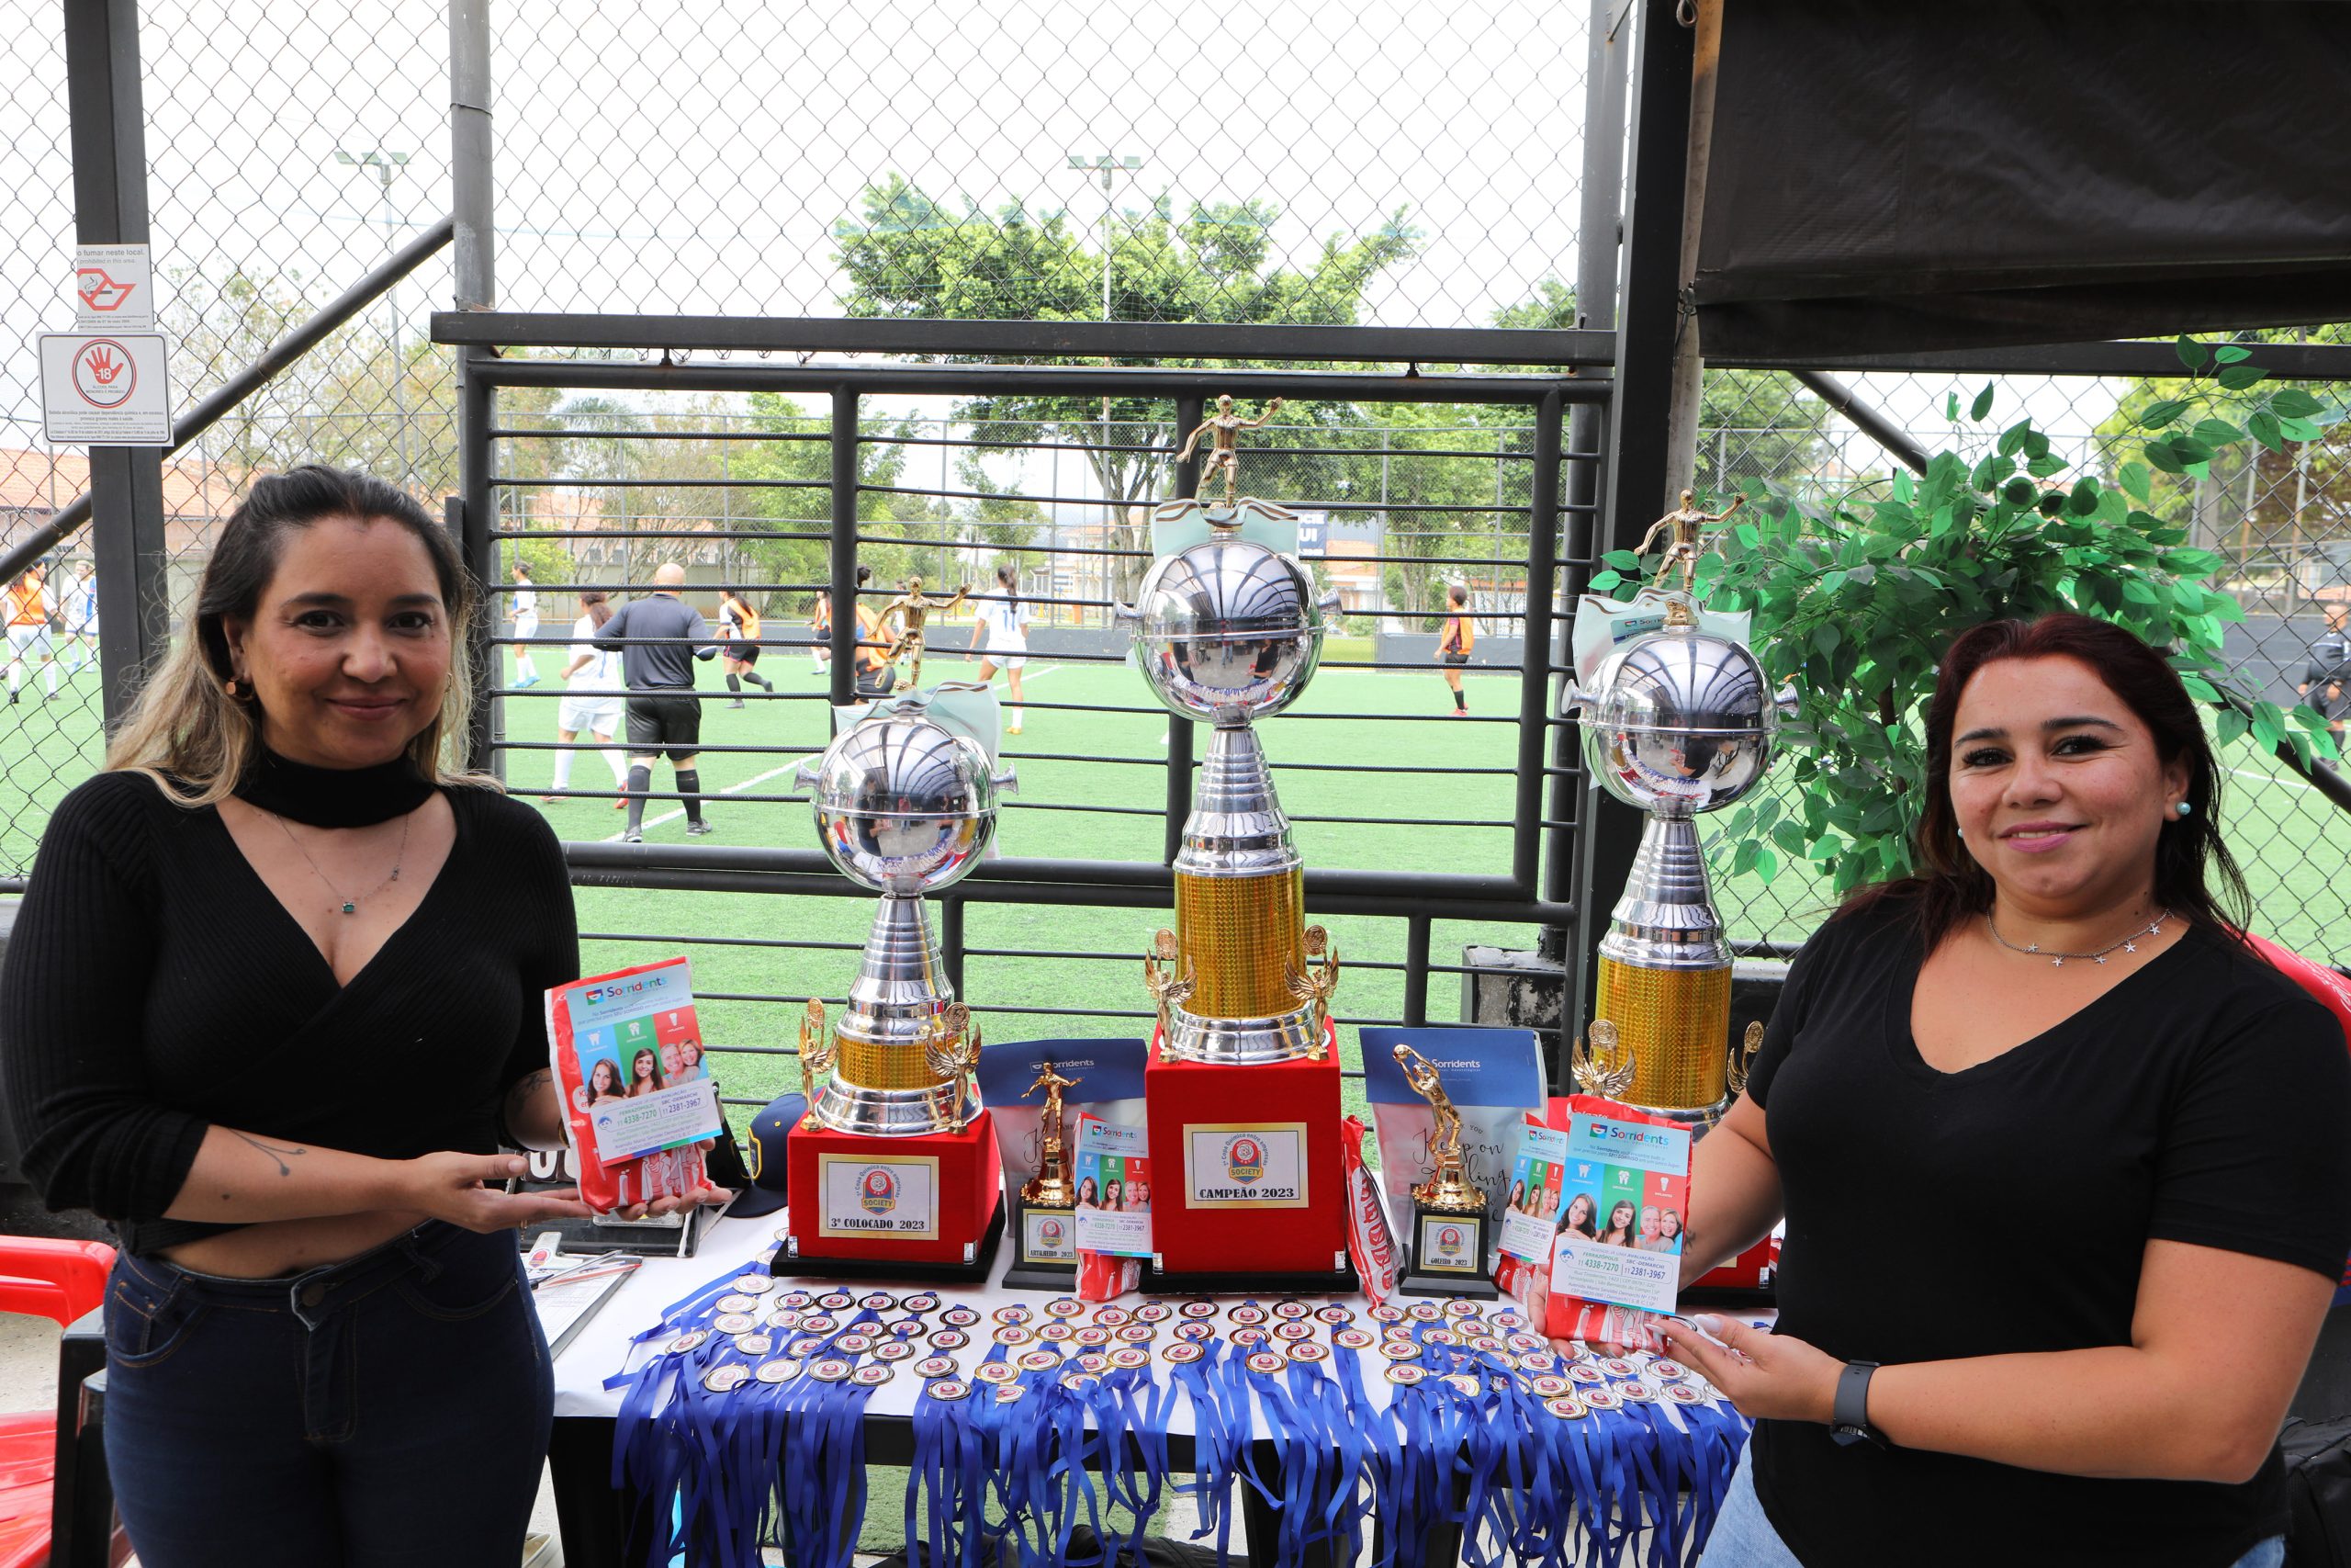
<instances>
[{"instance_id":1,"label":"leafy green tree beyond the fence, behind the tallest trophy","mask_svg":"<svg viewBox=\"0 0 2351 1568\"><path fill-rule=\"evenodd\" d=\"M863 193L863 219L835 226L844 303L865 317L985 317L1077 322L1103 317L1103 249L1089 247L1065 212L1020 205L962 212L903 176ZM1411 256L1418 235L1399 209L1361 240L1324 240L1305 270L1272 259L1272 202L1168 200L1124 212L1110 226L1110 317L1143 322L1354 324L1366 287ZM1067 444L1107 501L1112 548L1147 548L1145 501L1164 489L1166 404L1147 397L978 397L959 418L987 423L1002 447ZM1176 433L1180 440L1180 433ZM1121 559L1131 590L1140 559Z\"/></svg>"}]
</instances>

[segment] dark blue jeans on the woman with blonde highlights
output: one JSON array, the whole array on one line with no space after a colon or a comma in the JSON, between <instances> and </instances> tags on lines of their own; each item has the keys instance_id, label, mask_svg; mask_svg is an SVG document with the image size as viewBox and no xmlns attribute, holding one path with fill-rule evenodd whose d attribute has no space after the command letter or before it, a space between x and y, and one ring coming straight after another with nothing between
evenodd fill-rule
<instances>
[{"instance_id":1,"label":"dark blue jeans on the woman with blonde highlights","mask_svg":"<svg viewBox=\"0 0 2351 1568\"><path fill-rule=\"evenodd\" d=\"M513 1232L292 1279L115 1260L106 1469L146 1568L515 1568L552 1418Z\"/></svg>"}]
</instances>

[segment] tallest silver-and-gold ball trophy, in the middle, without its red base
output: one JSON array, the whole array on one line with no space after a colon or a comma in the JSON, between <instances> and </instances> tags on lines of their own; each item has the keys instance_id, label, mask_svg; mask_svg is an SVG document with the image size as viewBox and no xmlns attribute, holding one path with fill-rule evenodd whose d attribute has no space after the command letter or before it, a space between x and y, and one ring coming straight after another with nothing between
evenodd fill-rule
<instances>
[{"instance_id":1,"label":"tallest silver-and-gold ball trophy, in the middle, without its red base","mask_svg":"<svg viewBox=\"0 0 2351 1568\"><path fill-rule=\"evenodd\" d=\"M1147 961L1161 1051L1197 1063L1321 1056L1338 978L1321 926L1302 924L1305 863L1251 729L1307 689L1338 595L1317 599L1295 557L1244 538L1251 512L1291 520L1265 501L1159 508L1159 520L1197 515L1208 538L1152 562L1136 607L1117 611L1152 693L1215 726L1173 865L1176 931Z\"/></svg>"}]
</instances>

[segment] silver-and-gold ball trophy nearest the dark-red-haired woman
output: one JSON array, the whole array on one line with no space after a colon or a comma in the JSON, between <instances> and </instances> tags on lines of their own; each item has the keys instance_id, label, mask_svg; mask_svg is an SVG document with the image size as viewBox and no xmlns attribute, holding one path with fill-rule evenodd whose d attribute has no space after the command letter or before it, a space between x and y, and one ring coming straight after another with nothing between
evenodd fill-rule
<instances>
[{"instance_id":1,"label":"silver-and-gold ball trophy nearest the dark-red-haired woman","mask_svg":"<svg viewBox=\"0 0 2351 1568\"><path fill-rule=\"evenodd\" d=\"M1740 799L1770 764L1780 710L1754 654L1704 632L1681 595L1665 630L1608 654L1582 710L1585 766L1648 813L1625 896L1608 917L1592 992L1615 1025L1617 1084L1639 1110L1721 1114L1730 1095L1730 943L1707 884L1697 813ZM1603 1032L1596 1027L1594 1039Z\"/></svg>"}]
</instances>

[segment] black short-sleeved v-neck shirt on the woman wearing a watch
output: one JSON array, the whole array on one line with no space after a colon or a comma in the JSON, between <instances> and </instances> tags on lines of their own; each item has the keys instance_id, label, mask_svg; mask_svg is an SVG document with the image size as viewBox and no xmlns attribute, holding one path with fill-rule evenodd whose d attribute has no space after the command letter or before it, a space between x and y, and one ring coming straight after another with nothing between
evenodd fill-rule
<instances>
[{"instance_id":1,"label":"black short-sleeved v-neck shirt on the woman wearing a watch","mask_svg":"<svg viewBox=\"0 0 2351 1568\"><path fill-rule=\"evenodd\" d=\"M2128 1345L2158 1237L2342 1276L2351 1056L2299 985L2191 926L2050 1032L1940 1072L1909 1027L1923 957L1902 898L1822 926L1747 1079L1787 1197L1780 1333L1888 1366ZM2210 1347L2226 1380L2226 1321ZM2288 1519L2276 1448L2243 1486L2102 1481L1766 1420L1754 1465L1808 1568L2219 1566Z\"/></svg>"}]
</instances>

